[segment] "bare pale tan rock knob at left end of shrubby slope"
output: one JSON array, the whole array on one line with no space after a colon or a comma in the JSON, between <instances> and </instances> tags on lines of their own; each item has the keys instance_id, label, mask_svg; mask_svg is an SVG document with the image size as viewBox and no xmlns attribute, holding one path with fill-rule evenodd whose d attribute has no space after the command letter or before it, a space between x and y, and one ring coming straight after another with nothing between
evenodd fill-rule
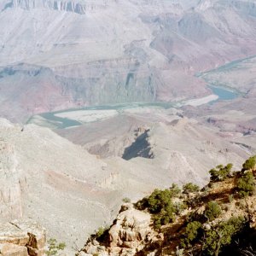
<instances>
[{"instance_id":1,"label":"bare pale tan rock knob at left end of shrubby slope","mask_svg":"<svg viewBox=\"0 0 256 256\"><path fill-rule=\"evenodd\" d=\"M125 204L108 230L105 246L96 240L90 241L79 255L134 255L156 234L150 224L149 213L138 211L131 204Z\"/></svg>"}]
</instances>

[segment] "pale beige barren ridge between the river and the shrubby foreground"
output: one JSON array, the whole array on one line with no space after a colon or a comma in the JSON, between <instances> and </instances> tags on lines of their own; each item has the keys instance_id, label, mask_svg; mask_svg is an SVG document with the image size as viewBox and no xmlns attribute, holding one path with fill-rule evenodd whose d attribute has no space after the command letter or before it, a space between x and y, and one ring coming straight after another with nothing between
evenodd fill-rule
<instances>
[{"instance_id":1,"label":"pale beige barren ridge between the river and the shrubby foreground","mask_svg":"<svg viewBox=\"0 0 256 256\"><path fill-rule=\"evenodd\" d=\"M155 187L168 188L172 183L204 184L212 166L227 162L241 166L247 158L247 150L218 137L218 131L169 111L135 112L137 118L127 119L125 126L114 117L97 127L102 138L112 141L106 154L124 150L135 139L135 148L139 147L131 160L103 159L49 129L0 119L0 218L32 218L44 225L49 237L69 248L82 247L86 236L113 221L123 198L136 201ZM85 125L84 140L101 139L95 125ZM104 125L109 125L106 131ZM120 144L114 138L116 131ZM131 140L122 141L123 132ZM148 155L136 140L145 132Z\"/></svg>"}]
</instances>

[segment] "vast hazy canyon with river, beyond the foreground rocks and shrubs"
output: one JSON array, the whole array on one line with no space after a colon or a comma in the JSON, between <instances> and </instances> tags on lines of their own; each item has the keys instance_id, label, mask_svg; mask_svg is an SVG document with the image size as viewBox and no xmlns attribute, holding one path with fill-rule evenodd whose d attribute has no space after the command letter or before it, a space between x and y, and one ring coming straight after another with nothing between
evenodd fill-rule
<instances>
[{"instance_id":1,"label":"vast hazy canyon with river, beyond the foreground rocks and shrubs","mask_svg":"<svg viewBox=\"0 0 256 256\"><path fill-rule=\"evenodd\" d=\"M240 170L255 30L250 0L0 0L0 221L73 255L124 198Z\"/></svg>"}]
</instances>

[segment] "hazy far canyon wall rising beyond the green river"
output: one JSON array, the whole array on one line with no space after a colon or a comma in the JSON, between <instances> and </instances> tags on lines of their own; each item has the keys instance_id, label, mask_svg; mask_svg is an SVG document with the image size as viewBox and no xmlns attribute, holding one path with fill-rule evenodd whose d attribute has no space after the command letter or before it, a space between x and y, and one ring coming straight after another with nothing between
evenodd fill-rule
<instances>
[{"instance_id":1,"label":"hazy far canyon wall rising beyond the green river","mask_svg":"<svg viewBox=\"0 0 256 256\"><path fill-rule=\"evenodd\" d=\"M195 73L256 53L249 0L0 0L0 9L1 114L15 120L207 96Z\"/></svg>"}]
</instances>

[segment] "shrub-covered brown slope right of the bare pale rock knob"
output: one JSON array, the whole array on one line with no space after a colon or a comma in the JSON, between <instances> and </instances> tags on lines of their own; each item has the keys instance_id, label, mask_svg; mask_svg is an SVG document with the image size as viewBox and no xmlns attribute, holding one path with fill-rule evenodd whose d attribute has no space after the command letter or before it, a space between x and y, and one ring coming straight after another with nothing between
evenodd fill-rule
<instances>
[{"instance_id":1,"label":"shrub-covered brown slope right of the bare pale rock knob","mask_svg":"<svg viewBox=\"0 0 256 256\"><path fill-rule=\"evenodd\" d=\"M253 202L243 199L255 196L252 167L244 170L253 166L252 162L249 159L241 172L233 173L231 164L217 166L210 171L212 183L200 193L200 188L193 183L184 184L183 193L172 184L169 189L154 189L151 195L138 201L137 209L151 213L154 230L162 233L154 236L153 245L146 241L147 249L154 247L157 255L218 256L234 255L232 250L236 247L240 253L244 252L242 255L256 255L256 247L252 247L255 230L249 225L254 219L254 210L250 208ZM105 232L100 229L96 236L103 237ZM247 239L247 234L254 235ZM166 248L169 251L165 251Z\"/></svg>"}]
</instances>

